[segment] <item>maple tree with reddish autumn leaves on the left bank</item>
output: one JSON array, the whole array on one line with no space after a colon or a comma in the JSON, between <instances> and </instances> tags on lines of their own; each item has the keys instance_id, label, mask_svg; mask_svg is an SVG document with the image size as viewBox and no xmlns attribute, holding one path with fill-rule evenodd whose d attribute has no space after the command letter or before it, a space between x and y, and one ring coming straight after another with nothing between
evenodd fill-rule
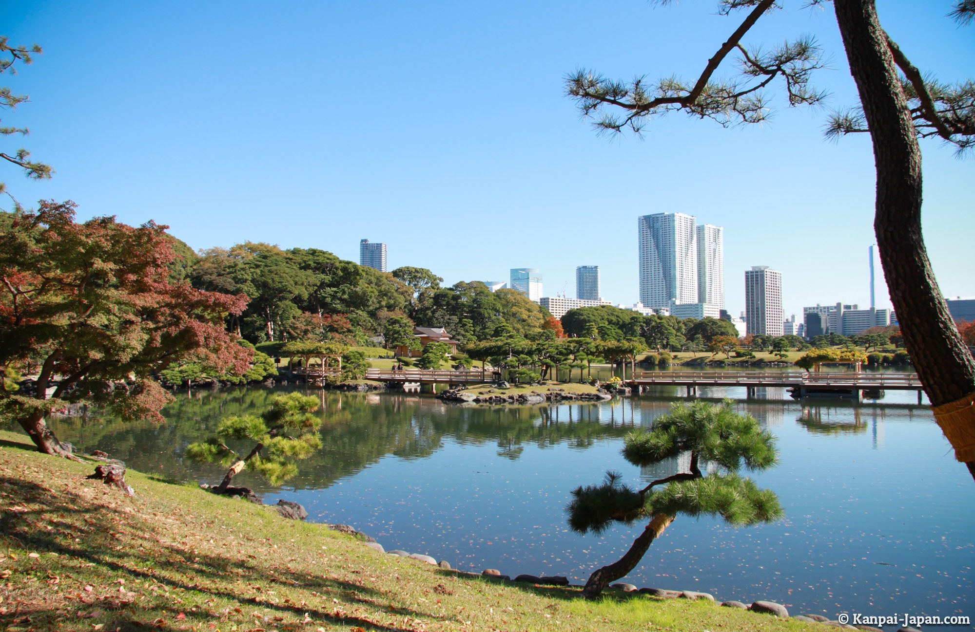
<instances>
[{"instance_id":1,"label":"maple tree with reddish autumn leaves on the left bank","mask_svg":"<svg viewBox=\"0 0 975 632\"><path fill-rule=\"evenodd\" d=\"M241 374L252 358L223 327L247 297L174 283L165 226L133 228L112 217L79 224L74 209L42 202L8 216L0 232L0 366L40 369L32 394L0 392L0 417L59 456L70 455L45 417L65 402L162 420L170 395L153 373L192 354Z\"/></svg>"}]
</instances>

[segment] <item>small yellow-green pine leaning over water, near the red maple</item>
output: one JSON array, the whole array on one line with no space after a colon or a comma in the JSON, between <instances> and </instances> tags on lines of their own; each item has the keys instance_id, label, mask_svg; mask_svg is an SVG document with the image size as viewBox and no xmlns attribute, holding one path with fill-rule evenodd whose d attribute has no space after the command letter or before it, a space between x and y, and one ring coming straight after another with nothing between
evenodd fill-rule
<instances>
[{"instance_id":1,"label":"small yellow-green pine leaning over water, near the red maple","mask_svg":"<svg viewBox=\"0 0 975 632\"><path fill-rule=\"evenodd\" d=\"M315 415L316 397L291 392L271 398L271 407L260 417L228 417L206 441L191 443L186 455L201 463L228 465L226 475L215 492L227 491L233 477L245 467L262 474L271 485L280 485L298 472L295 461L307 459L322 447L318 428L322 420ZM227 446L232 441L253 441L246 456Z\"/></svg>"}]
</instances>

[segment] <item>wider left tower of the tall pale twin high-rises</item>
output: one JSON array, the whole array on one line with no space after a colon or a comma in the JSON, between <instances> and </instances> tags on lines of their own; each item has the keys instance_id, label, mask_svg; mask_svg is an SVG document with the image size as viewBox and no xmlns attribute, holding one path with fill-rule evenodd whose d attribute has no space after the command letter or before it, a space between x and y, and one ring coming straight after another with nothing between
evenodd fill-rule
<instances>
[{"instance_id":1,"label":"wider left tower of the tall pale twin high-rises","mask_svg":"<svg viewBox=\"0 0 975 632\"><path fill-rule=\"evenodd\" d=\"M637 219L640 236L640 302L653 309L671 301L697 303L697 240L694 218L654 213Z\"/></svg>"}]
</instances>

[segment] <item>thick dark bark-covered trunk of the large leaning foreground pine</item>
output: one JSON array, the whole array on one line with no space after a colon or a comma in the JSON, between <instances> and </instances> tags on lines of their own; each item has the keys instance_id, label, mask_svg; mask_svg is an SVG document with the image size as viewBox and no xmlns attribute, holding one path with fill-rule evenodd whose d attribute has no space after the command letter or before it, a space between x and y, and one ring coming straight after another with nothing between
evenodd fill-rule
<instances>
[{"instance_id":1,"label":"thick dark bark-covered trunk of the large leaning foreground pine","mask_svg":"<svg viewBox=\"0 0 975 632\"><path fill-rule=\"evenodd\" d=\"M874 0L835 0L834 6L874 145L874 230L890 300L935 418L957 460L968 462L975 476L975 407L964 403L975 393L975 360L938 289L921 236L921 155L907 98ZM958 404L949 421L939 408L952 402Z\"/></svg>"}]
</instances>

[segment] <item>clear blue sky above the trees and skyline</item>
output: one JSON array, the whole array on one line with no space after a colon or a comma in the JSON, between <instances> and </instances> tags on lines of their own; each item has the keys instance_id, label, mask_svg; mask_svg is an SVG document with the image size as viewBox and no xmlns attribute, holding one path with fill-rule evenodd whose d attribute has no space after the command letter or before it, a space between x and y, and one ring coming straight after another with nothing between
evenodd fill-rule
<instances>
[{"instance_id":1,"label":"clear blue sky above the trees and skyline","mask_svg":"<svg viewBox=\"0 0 975 632\"><path fill-rule=\"evenodd\" d=\"M854 103L832 6L801 4L786 0L746 43L815 34L831 60L815 85L828 107ZM975 27L944 17L949 0L878 4L918 67L971 76ZM570 297L575 266L599 265L604 297L626 304L638 298L637 217L682 211L724 227L734 314L753 265L782 271L786 314L869 304L865 135L828 142L826 110L785 108L761 127L671 115L643 139L607 140L565 98L577 67L696 78L741 18L715 8L8 0L5 32L45 53L4 77L31 99L4 123L29 127L21 144L57 173L0 178L23 203L153 219L194 248L250 240L358 260L367 238L388 243L391 268L453 283L534 267L546 295ZM934 141L922 149L935 273L946 295L973 295L975 164Z\"/></svg>"}]
</instances>

